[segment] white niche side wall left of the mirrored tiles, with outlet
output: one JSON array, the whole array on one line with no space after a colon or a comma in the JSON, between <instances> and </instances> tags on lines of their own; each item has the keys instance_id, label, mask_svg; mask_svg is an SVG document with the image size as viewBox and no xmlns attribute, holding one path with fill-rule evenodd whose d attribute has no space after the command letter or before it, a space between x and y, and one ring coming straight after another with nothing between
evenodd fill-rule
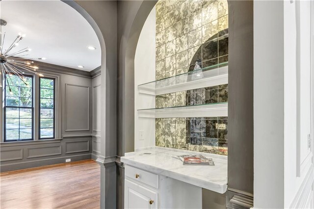
<instances>
[{"instance_id":1,"label":"white niche side wall left of the mirrored tiles, with outlet","mask_svg":"<svg viewBox=\"0 0 314 209\"><path fill-rule=\"evenodd\" d=\"M156 73L156 9L146 19L138 39L134 58L134 148L155 146L155 119L139 118L137 109L155 108L155 96L138 93L137 86L155 80ZM139 140L139 131L144 131L144 140Z\"/></svg>"}]
</instances>

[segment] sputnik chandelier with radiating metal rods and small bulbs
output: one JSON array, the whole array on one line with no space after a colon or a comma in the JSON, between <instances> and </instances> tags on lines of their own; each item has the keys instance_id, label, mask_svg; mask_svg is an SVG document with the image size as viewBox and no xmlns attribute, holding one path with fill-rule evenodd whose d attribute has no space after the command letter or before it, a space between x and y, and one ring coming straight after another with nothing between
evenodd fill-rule
<instances>
[{"instance_id":1,"label":"sputnik chandelier with radiating metal rods and small bulbs","mask_svg":"<svg viewBox=\"0 0 314 209\"><path fill-rule=\"evenodd\" d=\"M7 22L0 19L0 26L6 26ZM0 50L1 50L1 57L0 57L0 77L1 74L3 75L3 78L7 80L7 85L9 87L9 90L11 92L11 88L9 85L8 78L10 79L10 75L16 75L18 78L23 81L26 86L26 78L23 74L25 74L24 71L28 71L31 73L35 73L39 77L43 77L44 75L41 73L36 72L38 70L38 67L34 65L34 62L24 58L28 55L28 52L31 51L28 47L14 51L14 49L19 46L19 42L25 37L25 34L19 33L16 39L13 41L13 43L7 48L4 49L4 39L5 39L5 32L3 33L2 37L2 31L0 31ZM2 87L2 79L0 80L0 87Z\"/></svg>"}]
</instances>

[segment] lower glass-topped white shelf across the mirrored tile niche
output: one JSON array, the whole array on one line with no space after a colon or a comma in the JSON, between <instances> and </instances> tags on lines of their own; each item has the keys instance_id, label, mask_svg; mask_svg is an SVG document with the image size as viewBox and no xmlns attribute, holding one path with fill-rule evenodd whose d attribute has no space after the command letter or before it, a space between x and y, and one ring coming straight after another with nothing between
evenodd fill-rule
<instances>
[{"instance_id":1,"label":"lower glass-topped white shelf across the mirrored tile niche","mask_svg":"<svg viewBox=\"0 0 314 209\"><path fill-rule=\"evenodd\" d=\"M137 112L139 117L146 118L227 117L228 103L138 109Z\"/></svg>"}]
</instances>

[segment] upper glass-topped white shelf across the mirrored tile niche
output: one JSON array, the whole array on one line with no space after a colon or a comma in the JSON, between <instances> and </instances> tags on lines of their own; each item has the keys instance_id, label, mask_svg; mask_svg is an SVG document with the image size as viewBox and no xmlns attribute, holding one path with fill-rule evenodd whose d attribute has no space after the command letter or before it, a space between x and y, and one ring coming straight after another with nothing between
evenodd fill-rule
<instances>
[{"instance_id":1,"label":"upper glass-topped white shelf across the mirrored tile niche","mask_svg":"<svg viewBox=\"0 0 314 209\"><path fill-rule=\"evenodd\" d=\"M139 93L160 95L228 83L228 62L138 85Z\"/></svg>"}]
</instances>

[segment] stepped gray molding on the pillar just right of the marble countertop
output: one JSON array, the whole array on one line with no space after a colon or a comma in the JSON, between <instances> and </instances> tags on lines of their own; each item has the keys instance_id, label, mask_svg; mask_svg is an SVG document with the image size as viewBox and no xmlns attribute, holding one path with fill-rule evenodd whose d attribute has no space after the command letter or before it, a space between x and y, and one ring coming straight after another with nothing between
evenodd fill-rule
<instances>
[{"instance_id":1,"label":"stepped gray molding on the pillar just right of the marble countertop","mask_svg":"<svg viewBox=\"0 0 314 209\"><path fill-rule=\"evenodd\" d=\"M228 201L229 200L229 201ZM228 209L250 209L254 204L253 194L238 189L227 189Z\"/></svg>"}]
</instances>

